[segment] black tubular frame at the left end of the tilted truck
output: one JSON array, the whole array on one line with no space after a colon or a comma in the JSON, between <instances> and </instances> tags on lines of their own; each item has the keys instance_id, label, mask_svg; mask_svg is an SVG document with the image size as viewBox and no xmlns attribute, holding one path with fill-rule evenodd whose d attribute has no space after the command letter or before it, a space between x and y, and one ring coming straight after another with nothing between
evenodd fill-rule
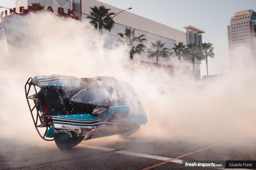
<instances>
[{"instance_id":1,"label":"black tubular frame at the left end of the tilted truck","mask_svg":"<svg viewBox=\"0 0 256 170\"><path fill-rule=\"evenodd\" d=\"M39 87L39 86L37 86L37 87ZM27 99L29 111L31 113L36 131L38 132L40 137L42 139L44 139L45 141L53 141L54 139L46 138L46 133L47 133L48 129L50 128L49 123L52 122L52 119L51 119L51 117L46 117L46 115L41 112L40 97L37 93L36 85L35 85L35 83L33 83L33 79L31 77L28 78L28 81L26 82L24 88L25 88L25 92L26 92L26 99ZM41 87L39 87L39 88L41 89ZM31 101L31 100L34 103L33 106L31 106L32 102L29 103L29 101ZM43 118L43 120L41 119L41 117ZM39 119L39 121L38 121L38 119ZM44 133L40 132L38 127L45 128L45 132Z\"/></svg>"}]
</instances>

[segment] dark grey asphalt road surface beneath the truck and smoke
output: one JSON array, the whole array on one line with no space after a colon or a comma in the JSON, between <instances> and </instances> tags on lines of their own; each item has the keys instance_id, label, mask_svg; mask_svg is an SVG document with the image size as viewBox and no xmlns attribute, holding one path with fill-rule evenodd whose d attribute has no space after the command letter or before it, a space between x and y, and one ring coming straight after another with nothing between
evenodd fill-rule
<instances>
[{"instance_id":1,"label":"dark grey asphalt road surface beneath the truck and smoke","mask_svg":"<svg viewBox=\"0 0 256 170\"><path fill-rule=\"evenodd\" d=\"M256 139L214 143L105 137L61 151L54 142L0 137L0 169L195 169L181 160L256 160Z\"/></svg>"}]
</instances>

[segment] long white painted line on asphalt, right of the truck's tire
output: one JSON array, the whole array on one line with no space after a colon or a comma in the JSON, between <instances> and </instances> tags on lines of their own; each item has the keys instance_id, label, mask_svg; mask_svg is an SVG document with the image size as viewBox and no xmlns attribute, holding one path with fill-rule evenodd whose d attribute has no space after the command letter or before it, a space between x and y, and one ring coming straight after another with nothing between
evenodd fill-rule
<instances>
[{"instance_id":1,"label":"long white painted line on asphalt, right of the truck's tire","mask_svg":"<svg viewBox=\"0 0 256 170\"><path fill-rule=\"evenodd\" d=\"M111 152L111 151L116 150L116 149L92 146L92 145L87 145L87 144L78 144L78 146L84 147L84 148L96 149L96 150L100 150L100 151L107 151L107 152ZM151 154L136 153L136 152L122 151L122 150L121 151L115 151L114 153L125 154L125 155L129 155L129 156L142 157L142 158L156 159L156 160L159 160L159 161L168 161L168 160L170 160L170 162L179 163L179 164L183 164L183 161L184 161L184 160L181 160L181 159L173 159L173 158L168 158L168 157L155 156L155 155L151 155ZM191 162L193 162L193 161L191 161ZM225 168L212 168L212 169L225 169ZM243 169L241 169L241 170L243 170Z\"/></svg>"}]
</instances>

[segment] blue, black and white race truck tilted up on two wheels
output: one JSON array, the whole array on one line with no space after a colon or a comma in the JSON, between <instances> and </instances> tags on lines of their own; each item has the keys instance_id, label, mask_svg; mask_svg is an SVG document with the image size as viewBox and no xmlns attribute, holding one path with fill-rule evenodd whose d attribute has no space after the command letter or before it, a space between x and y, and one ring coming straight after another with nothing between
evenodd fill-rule
<instances>
[{"instance_id":1,"label":"blue, black and white race truck tilted up on two wheels","mask_svg":"<svg viewBox=\"0 0 256 170\"><path fill-rule=\"evenodd\" d=\"M38 134L60 149L115 134L125 138L147 122L134 89L114 77L36 76L25 92Z\"/></svg>"}]
</instances>

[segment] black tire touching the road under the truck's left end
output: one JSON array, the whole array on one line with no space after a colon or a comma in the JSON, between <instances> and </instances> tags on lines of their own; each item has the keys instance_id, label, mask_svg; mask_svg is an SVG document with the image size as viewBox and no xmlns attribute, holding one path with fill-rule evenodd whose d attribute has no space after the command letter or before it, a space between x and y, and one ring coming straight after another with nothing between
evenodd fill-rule
<instances>
[{"instance_id":1,"label":"black tire touching the road under the truck's left end","mask_svg":"<svg viewBox=\"0 0 256 170\"><path fill-rule=\"evenodd\" d=\"M84 138L85 138L84 136L72 137L64 140L55 138L54 141L59 149L64 150L64 149L72 149L73 147L77 146L78 143L82 142Z\"/></svg>"}]
</instances>

